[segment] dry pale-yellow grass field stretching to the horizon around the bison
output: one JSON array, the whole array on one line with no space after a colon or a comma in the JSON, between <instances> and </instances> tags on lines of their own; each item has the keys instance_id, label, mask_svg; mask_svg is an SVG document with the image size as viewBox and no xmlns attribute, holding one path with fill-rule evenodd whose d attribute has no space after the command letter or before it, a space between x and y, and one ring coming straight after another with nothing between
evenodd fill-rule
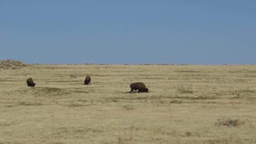
<instances>
[{"instance_id":1,"label":"dry pale-yellow grass field stretching to the horizon around the bison","mask_svg":"<svg viewBox=\"0 0 256 144\"><path fill-rule=\"evenodd\" d=\"M256 65L0 69L0 144L255 143Z\"/></svg>"}]
</instances>

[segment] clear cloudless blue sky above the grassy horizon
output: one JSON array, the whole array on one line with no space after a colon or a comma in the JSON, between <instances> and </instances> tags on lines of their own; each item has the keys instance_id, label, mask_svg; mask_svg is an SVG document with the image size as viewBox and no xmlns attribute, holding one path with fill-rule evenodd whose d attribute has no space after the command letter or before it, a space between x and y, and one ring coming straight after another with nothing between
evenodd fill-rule
<instances>
[{"instance_id":1,"label":"clear cloudless blue sky above the grassy horizon","mask_svg":"<svg viewBox=\"0 0 256 144\"><path fill-rule=\"evenodd\" d=\"M0 59L256 64L256 0L0 0Z\"/></svg>"}]
</instances>

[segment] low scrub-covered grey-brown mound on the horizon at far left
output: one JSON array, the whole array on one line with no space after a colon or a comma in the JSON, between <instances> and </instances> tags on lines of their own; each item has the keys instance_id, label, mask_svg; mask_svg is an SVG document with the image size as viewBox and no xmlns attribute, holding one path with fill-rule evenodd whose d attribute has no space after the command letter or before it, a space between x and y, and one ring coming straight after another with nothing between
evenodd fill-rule
<instances>
[{"instance_id":1,"label":"low scrub-covered grey-brown mound on the horizon at far left","mask_svg":"<svg viewBox=\"0 0 256 144\"><path fill-rule=\"evenodd\" d=\"M0 69L18 69L21 67L31 66L31 64L25 64L20 60L4 59L0 60Z\"/></svg>"}]
</instances>

